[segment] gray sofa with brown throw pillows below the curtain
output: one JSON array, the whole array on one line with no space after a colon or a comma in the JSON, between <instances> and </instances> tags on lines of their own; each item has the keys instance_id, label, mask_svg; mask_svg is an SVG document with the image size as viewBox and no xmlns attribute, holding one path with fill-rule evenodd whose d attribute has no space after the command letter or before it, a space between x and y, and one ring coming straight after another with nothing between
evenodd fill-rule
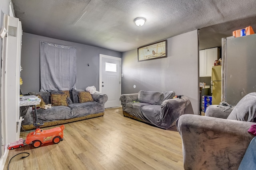
<instances>
[{"instance_id":1,"label":"gray sofa with brown throw pillows below the curtain","mask_svg":"<svg viewBox=\"0 0 256 170\"><path fill-rule=\"evenodd\" d=\"M70 123L99 117L104 115L104 104L108 100L106 94L94 93L90 94L85 90L52 90L51 92L30 92L29 95L35 95L41 98L44 104L51 104L52 107L48 109L38 108L37 115L38 122L44 123L40 127L48 127L60 125L63 123ZM32 106L21 107L22 128L24 130L34 129L35 111Z\"/></svg>"}]
</instances>

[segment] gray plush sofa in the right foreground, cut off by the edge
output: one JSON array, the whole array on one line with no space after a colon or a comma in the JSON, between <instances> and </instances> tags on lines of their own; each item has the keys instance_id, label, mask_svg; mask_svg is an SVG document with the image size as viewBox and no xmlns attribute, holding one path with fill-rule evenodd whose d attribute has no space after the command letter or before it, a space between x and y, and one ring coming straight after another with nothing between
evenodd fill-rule
<instances>
[{"instance_id":1,"label":"gray plush sofa in the right foreground, cut off by the edge","mask_svg":"<svg viewBox=\"0 0 256 170\"><path fill-rule=\"evenodd\" d=\"M256 124L256 93L228 107L212 105L206 116L182 115L177 119L185 170L238 169L254 137L247 131Z\"/></svg>"}]
</instances>

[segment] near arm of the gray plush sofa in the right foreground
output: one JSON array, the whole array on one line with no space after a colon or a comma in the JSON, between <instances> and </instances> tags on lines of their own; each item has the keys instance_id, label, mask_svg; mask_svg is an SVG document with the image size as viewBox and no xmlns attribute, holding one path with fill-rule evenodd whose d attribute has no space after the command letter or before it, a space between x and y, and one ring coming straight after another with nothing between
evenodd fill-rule
<instances>
[{"instance_id":1,"label":"near arm of the gray plush sofa in the right foreground","mask_svg":"<svg viewBox=\"0 0 256 170\"><path fill-rule=\"evenodd\" d=\"M181 115L176 121L182 139L185 170L237 170L254 137L253 122L200 115Z\"/></svg>"}]
</instances>

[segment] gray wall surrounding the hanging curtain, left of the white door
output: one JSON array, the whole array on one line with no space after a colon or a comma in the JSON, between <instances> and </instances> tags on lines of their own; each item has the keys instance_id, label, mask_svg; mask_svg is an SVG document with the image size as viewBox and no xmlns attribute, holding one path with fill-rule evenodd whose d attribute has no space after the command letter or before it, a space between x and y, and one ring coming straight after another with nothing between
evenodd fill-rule
<instances>
[{"instance_id":1,"label":"gray wall surrounding the hanging curtain, left of the white door","mask_svg":"<svg viewBox=\"0 0 256 170\"><path fill-rule=\"evenodd\" d=\"M76 47L77 89L95 86L96 89L99 90L100 54L121 57L121 53L116 51L23 33L21 51L21 66L23 68L21 77L23 84L20 86L22 94L39 92L40 90L40 41ZM87 63L90 63L90 66L87 66Z\"/></svg>"}]
</instances>

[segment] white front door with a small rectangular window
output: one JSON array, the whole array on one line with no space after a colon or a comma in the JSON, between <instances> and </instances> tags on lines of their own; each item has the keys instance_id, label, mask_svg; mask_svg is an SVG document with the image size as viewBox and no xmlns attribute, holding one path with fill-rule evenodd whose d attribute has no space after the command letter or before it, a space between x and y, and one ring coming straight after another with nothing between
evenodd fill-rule
<instances>
[{"instance_id":1,"label":"white front door with a small rectangular window","mask_svg":"<svg viewBox=\"0 0 256 170\"><path fill-rule=\"evenodd\" d=\"M99 90L108 96L105 108L120 106L121 58L100 54Z\"/></svg>"}]
</instances>

